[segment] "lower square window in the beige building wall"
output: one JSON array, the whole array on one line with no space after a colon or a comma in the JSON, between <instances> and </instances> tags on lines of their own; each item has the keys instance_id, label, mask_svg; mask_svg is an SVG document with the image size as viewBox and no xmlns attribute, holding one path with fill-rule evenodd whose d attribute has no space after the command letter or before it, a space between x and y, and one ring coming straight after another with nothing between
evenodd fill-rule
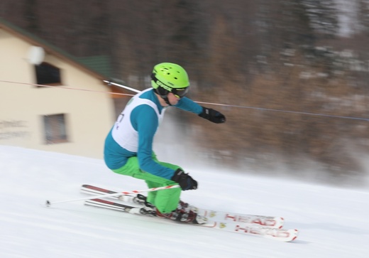
<instances>
[{"instance_id":1,"label":"lower square window in the beige building wall","mask_svg":"<svg viewBox=\"0 0 369 258\"><path fill-rule=\"evenodd\" d=\"M60 144L68 141L65 117L65 114L43 116L46 144Z\"/></svg>"}]
</instances>

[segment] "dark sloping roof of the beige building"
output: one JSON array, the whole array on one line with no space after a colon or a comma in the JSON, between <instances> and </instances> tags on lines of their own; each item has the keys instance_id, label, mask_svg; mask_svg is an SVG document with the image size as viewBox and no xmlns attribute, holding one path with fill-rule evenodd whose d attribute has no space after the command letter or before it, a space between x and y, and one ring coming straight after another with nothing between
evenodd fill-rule
<instances>
[{"instance_id":1,"label":"dark sloping roof of the beige building","mask_svg":"<svg viewBox=\"0 0 369 258\"><path fill-rule=\"evenodd\" d=\"M67 63L77 66L77 68L88 72L90 75L97 77L99 80L109 80L111 78L111 63L108 55L97 55L84 58L77 58L65 50L57 48L57 46L35 36L34 34L19 28L13 23L6 21L0 17L0 28L5 31L22 38L24 41L32 45L42 47L46 53L55 55Z\"/></svg>"}]
</instances>

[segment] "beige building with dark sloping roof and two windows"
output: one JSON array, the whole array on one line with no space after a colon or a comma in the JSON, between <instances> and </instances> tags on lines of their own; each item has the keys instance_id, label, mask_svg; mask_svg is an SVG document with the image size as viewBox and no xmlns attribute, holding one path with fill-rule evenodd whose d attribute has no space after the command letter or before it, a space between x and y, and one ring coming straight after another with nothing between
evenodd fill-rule
<instances>
[{"instance_id":1,"label":"beige building with dark sloping roof and two windows","mask_svg":"<svg viewBox=\"0 0 369 258\"><path fill-rule=\"evenodd\" d=\"M75 58L0 18L0 144L103 157L109 59ZM40 86L43 85L43 86Z\"/></svg>"}]
</instances>

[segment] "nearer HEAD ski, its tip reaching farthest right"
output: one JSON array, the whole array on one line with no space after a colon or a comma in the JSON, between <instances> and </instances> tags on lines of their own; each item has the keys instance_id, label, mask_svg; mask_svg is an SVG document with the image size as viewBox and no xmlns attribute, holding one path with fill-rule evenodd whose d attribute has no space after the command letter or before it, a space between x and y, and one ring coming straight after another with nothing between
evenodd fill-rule
<instances>
[{"instance_id":1,"label":"nearer HEAD ski, its tip reaching farthest right","mask_svg":"<svg viewBox=\"0 0 369 258\"><path fill-rule=\"evenodd\" d=\"M104 200L104 199L97 198L97 199L92 199L92 200L86 200L84 204L94 206L94 207L99 207L99 208L117 210L117 211L121 211L124 213L142 215L140 213L141 207L125 205L125 204L118 203L118 202L111 201L111 200ZM253 225L253 224L242 223L242 222L234 222L234 221L229 222L229 221L219 221L219 220L207 220L205 224L192 224L192 223L186 223L186 224L199 226L199 227L216 228L222 231L236 232L241 235L254 235L258 237L268 238L271 240L281 241L281 242L291 242L295 240L299 234L298 230L277 229L277 228L272 228L272 227L263 227L259 225Z\"/></svg>"}]
</instances>

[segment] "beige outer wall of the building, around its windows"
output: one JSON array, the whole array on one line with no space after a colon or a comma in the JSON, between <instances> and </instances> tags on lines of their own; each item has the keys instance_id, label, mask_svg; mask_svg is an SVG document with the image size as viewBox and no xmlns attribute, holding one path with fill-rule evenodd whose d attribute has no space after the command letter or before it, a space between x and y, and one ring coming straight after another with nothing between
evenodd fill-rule
<instances>
[{"instance_id":1,"label":"beige outer wall of the building, around its windows","mask_svg":"<svg viewBox=\"0 0 369 258\"><path fill-rule=\"evenodd\" d=\"M0 29L0 80L35 83L30 47ZM102 158L104 138L115 119L109 88L53 55L46 54L45 62L62 70L63 86L99 92L0 82L0 144ZM45 144L42 117L47 114L67 114L69 142Z\"/></svg>"}]
</instances>

